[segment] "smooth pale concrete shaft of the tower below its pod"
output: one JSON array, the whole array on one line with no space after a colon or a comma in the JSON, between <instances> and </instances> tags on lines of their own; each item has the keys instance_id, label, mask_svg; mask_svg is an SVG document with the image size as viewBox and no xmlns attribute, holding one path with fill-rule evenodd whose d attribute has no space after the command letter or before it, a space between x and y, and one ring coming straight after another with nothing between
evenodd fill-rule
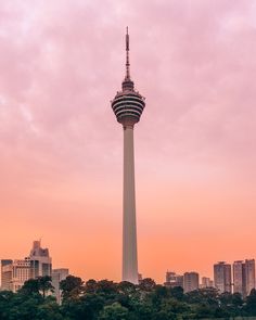
<instances>
[{"instance_id":1,"label":"smooth pale concrete shaft of the tower below its pod","mask_svg":"<svg viewBox=\"0 0 256 320\"><path fill-rule=\"evenodd\" d=\"M138 283L133 126L124 126L123 281Z\"/></svg>"}]
</instances>

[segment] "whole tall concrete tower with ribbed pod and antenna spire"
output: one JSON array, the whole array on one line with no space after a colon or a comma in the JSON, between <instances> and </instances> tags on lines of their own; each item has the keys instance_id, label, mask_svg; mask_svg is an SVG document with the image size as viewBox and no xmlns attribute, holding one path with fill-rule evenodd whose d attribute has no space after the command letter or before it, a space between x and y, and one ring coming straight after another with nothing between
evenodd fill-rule
<instances>
[{"instance_id":1,"label":"whole tall concrete tower with ribbed pod and antenna spire","mask_svg":"<svg viewBox=\"0 0 256 320\"><path fill-rule=\"evenodd\" d=\"M129 35L126 34L126 76L121 91L112 101L117 121L124 128L124 191L123 191L123 281L138 283L136 188L133 127L145 106L144 98L135 90L130 78Z\"/></svg>"}]
</instances>

